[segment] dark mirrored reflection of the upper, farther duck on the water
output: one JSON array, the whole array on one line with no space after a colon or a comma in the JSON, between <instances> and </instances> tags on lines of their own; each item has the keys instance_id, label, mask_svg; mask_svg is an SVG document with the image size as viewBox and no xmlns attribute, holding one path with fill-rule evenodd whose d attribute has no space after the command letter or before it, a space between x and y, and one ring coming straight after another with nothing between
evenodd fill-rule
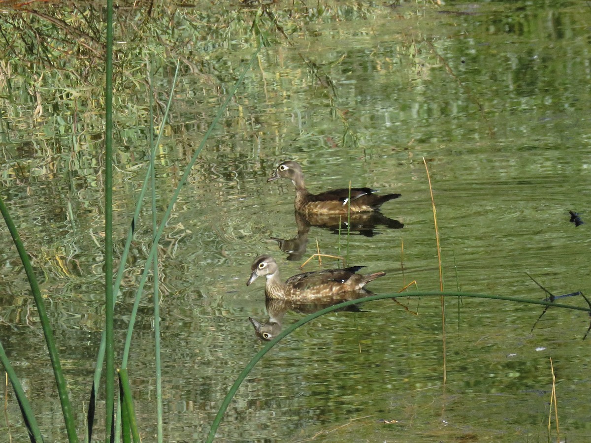
<instances>
[{"instance_id":1,"label":"dark mirrored reflection of the upper, farther duck on the water","mask_svg":"<svg viewBox=\"0 0 591 443\"><path fill-rule=\"evenodd\" d=\"M297 234L292 239L280 239L270 237L279 243L279 249L287 254L288 260L299 260L306 253L308 245L308 233L310 227L329 229L334 234L352 233L365 237L373 237L379 234L376 227L384 226L387 229L402 229L404 224L398 220L390 219L379 211L351 213L348 216L335 216L330 214L303 214L296 211Z\"/></svg>"}]
</instances>

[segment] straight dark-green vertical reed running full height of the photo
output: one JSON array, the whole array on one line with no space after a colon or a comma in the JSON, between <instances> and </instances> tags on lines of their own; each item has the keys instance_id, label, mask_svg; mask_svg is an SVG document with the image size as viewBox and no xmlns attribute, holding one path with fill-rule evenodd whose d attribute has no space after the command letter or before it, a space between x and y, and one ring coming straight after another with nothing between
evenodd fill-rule
<instances>
[{"instance_id":1,"label":"straight dark-green vertical reed running full height of the photo","mask_svg":"<svg viewBox=\"0 0 591 443\"><path fill-rule=\"evenodd\" d=\"M105 441L111 442L115 400L113 344L113 0L107 0L105 84Z\"/></svg>"}]
</instances>

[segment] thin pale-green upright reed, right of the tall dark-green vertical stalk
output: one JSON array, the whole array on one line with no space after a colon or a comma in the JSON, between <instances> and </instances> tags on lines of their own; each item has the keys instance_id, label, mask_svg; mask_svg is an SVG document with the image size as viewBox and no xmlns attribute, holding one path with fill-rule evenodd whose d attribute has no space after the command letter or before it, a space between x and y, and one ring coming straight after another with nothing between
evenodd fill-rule
<instances>
[{"instance_id":1,"label":"thin pale-green upright reed, right of the tall dark-green vertical stalk","mask_svg":"<svg viewBox=\"0 0 591 443\"><path fill-rule=\"evenodd\" d=\"M154 144L154 64L150 63L150 170L152 183L152 232L158 230L158 219L156 217L156 170L155 170L155 156L156 146ZM161 369L161 353L160 353L160 288L158 286L158 260L154 260L154 268L152 270L154 276L154 354L156 365L156 431L158 443L164 441L164 424L163 424L163 405L162 405L162 369Z\"/></svg>"}]
</instances>

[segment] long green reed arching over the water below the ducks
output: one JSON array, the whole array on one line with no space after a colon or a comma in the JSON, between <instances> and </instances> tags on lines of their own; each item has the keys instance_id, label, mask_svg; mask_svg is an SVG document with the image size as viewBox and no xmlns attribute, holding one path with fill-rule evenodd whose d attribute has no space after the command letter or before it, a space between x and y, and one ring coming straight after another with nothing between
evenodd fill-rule
<instances>
[{"instance_id":1,"label":"long green reed arching over the water below the ducks","mask_svg":"<svg viewBox=\"0 0 591 443\"><path fill-rule=\"evenodd\" d=\"M248 374L251 372L252 368L255 367L255 364L258 363L258 361L261 360L262 357L265 354L267 354L268 351L271 350L271 348L274 347L277 343L279 343L279 341L281 341L282 338L284 338L286 335L293 333L293 331L295 331L297 328L303 326L304 324L308 323L309 321L314 320L315 318L318 318L324 314L328 314L329 312L333 312L336 310L340 310L342 308L346 308L350 305L366 303L369 301L383 300L383 299L387 299L387 298L430 297L430 296L488 298L488 299L492 299L492 300L504 300L504 301L518 302L518 303L552 306L555 308L564 308L564 309L571 309L571 310L576 310L576 311L589 312L591 314L591 308L589 308L589 307L581 308L578 306L564 305L564 304L560 304L560 303L553 303L550 301L522 299L522 298L515 298L515 297L505 297L503 295L487 295L487 294L475 294L473 292L447 292L447 291L444 291L444 292L440 292L440 291L404 292L402 294L397 293L397 294L370 295L369 297L357 298L355 300L348 300L348 301L339 303L337 305L329 306L327 308L324 308L321 311L314 312L314 314L310 314L307 317L302 318L300 321L297 321L293 325L290 325L290 327L285 328L285 330L281 331L281 333L279 335L277 335L277 337L275 337L273 340L269 341L269 343L267 343L260 351L258 351L258 353L256 353L256 355L254 357L252 357L252 360L249 361L249 363L246 365L246 367L242 370L242 372L240 373L240 375L238 376L238 378L236 379L236 381L234 382L232 387L230 387L228 394L223 399L222 405L220 406L219 410L217 411L217 415L216 415L215 419L213 419L212 427L209 430L209 434L207 435L206 442L210 443L215 438L217 428L219 428L219 425L220 425L220 422L222 421L223 415L226 412L226 409L228 409L228 406L229 406L230 402L232 401L233 396L236 394L236 391L238 391L238 388L240 387L240 385L242 384L242 382L244 381L246 376L248 376Z\"/></svg>"}]
</instances>

